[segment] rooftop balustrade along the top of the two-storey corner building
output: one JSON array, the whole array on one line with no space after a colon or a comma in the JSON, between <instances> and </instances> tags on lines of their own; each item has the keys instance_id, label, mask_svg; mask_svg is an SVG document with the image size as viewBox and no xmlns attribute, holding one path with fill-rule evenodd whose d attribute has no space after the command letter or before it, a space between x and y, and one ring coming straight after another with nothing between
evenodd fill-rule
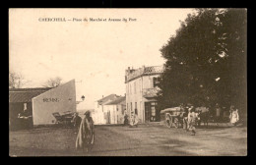
<instances>
[{"instance_id":1,"label":"rooftop balustrade along the top of the two-storey corner building","mask_svg":"<svg viewBox=\"0 0 256 165\"><path fill-rule=\"evenodd\" d=\"M143 75L161 74L163 72L163 66L144 67L140 68L133 73L127 75L127 80L130 81Z\"/></svg>"}]
</instances>

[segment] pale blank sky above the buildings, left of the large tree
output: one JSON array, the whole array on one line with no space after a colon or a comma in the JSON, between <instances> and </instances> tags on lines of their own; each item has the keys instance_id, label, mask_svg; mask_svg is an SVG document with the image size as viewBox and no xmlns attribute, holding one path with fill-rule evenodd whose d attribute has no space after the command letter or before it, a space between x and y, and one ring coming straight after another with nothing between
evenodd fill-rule
<instances>
[{"instance_id":1,"label":"pale blank sky above the buildings, left of the large tree","mask_svg":"<svg viewBox=\"0 0 256 165\"><path fill-rule=\"evenodd\" d=\"M163 65L160 48L189 13L193 10L10 9L9 69L23 75L23 87L42 87L55 77L63 83L75 79L77 100L86 97L77 109L94 109L102 95L125 94L128 67ZM40 22L44 18L66 22Z\"/></svg>"}]
</instances>

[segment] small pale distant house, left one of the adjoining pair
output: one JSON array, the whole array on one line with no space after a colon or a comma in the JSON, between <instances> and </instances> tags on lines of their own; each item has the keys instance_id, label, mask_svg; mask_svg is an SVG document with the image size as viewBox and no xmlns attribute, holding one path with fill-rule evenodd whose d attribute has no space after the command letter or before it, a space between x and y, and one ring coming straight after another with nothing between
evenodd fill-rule
<instances>
[{"instance_id":1,"label":"small pale distant house, left one of the adjoining pair","mask_svg":"<svg viewBox=\"0 0 256 165\"><path fill-rule=\"evenodd\" d=\"M107 103L110 103L114 101L115 99L119 98L121 96L116 94L110 94L107 96L102 96L102 98L98 99L95 102L95 113L93 115L93 119L96 124L110 124L110 111L107 111L105 109L105 105Z\"/></svg>"}]
</instances>

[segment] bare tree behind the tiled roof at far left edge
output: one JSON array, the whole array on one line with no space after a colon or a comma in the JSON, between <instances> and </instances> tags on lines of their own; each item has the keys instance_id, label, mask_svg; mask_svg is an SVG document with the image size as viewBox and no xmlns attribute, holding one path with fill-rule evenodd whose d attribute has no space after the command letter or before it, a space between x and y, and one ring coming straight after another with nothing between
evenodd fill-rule
<instances>
[{"instance_id":1,"label":"bare tree behind the tiled roof at far left edge","mask_svg":"<svg viewBox=\"0 0 256 165\"><path fill-rule=\"evenodd\" d=\"M9 88L20 88L26 83L22 74L17 74L14 71L9 72Z\"/></svg>"}]
</instances>

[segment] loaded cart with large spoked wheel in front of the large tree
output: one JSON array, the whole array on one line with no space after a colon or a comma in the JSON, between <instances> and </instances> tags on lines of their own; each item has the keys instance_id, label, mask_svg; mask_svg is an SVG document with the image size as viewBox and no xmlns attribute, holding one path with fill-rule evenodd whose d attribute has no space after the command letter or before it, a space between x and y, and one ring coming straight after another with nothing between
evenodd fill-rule
<instances>
[{"instance_id":1,"label":"loaded cart with large spoked wheel in front of the large tree","mask_svg":"<svg viewBox=\"0 0 256 165\"><path fill-rule=\"evenodd\" d=\"M160 119L168 128L178 128L183 123L183 110L180 107L163 109L160 111Z\"/></svg>"}]
</instances>

